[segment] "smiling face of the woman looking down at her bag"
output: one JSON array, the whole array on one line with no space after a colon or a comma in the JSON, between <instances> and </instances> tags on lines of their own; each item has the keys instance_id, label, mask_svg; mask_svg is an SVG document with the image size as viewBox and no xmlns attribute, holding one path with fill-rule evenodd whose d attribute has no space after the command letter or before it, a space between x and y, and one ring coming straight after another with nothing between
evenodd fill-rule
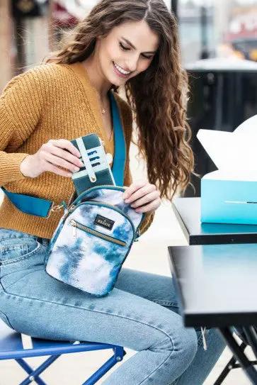
<instances>
[{"instance_id":1,"label":"smiling face of the woman looking down at her bag","mask_svg":"<svg viewBox=\"0 0 257 385\"><path fill-rule=\"evenodd\" d=\"M159 37L147 22L125 22L98 38L96 57L105 82L122 86L145 71L159 47Z\"/></svg>"}]
</instances>

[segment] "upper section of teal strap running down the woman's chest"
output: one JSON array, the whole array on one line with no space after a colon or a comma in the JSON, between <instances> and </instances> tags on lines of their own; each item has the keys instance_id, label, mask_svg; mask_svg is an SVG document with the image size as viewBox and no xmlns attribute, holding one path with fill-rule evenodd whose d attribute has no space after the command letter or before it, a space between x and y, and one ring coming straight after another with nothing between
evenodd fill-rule
<instances>
[{"instance_id":1,"label":"upper section of teal strap running down the woman's chest","mask_svg":"<svg viewBox=\"0 0 257 385\"><path fill-rule=\"evenodd\" d=\"M123 186L126 160L126 142L124 131L120 119L120 113L115 98L110 91L110 103L113 114L113 131L114 131L114 159L113 159L113 177L117 186Z\"/></svg>"}]
</instances>

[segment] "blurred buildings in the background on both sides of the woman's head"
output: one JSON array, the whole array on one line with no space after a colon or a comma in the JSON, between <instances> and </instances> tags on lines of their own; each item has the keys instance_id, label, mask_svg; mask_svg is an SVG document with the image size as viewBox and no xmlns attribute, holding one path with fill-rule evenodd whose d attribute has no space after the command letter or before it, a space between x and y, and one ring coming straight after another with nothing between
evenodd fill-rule
<instances>
[{"instance_id":1,"label":"blurred buildings in the background on both sides of the woman's head","mask_svg":"<svg viewBox=\"0 0 257 385\"><path fill-rule=\"evenodd\" d=\"M38 65L63 32L98 0L0 0L0 91L13 75ZM257 60L257 6L251 0L164 0L178 9L184 64L237 55ZM253 1L251 1L253 3Z\"/></svg>"}]
</instances>

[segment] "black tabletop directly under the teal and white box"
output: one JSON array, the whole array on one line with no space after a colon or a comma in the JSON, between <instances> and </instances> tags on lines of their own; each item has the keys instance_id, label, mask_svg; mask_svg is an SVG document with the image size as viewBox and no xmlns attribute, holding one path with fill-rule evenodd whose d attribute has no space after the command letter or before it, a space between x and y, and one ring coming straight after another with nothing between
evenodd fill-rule
<instances>
[{"instance_id":1,"label":"black tabletop directly under the teal and white box","mask_svg":"<svg viewBox=\"0 0 257 385\"><path fill-rule=\"evenodd\" d=\"M200 222L200 198L177 198L173 210L189 245L257 243L257 225Z\"/></svg>"}]
</instances>

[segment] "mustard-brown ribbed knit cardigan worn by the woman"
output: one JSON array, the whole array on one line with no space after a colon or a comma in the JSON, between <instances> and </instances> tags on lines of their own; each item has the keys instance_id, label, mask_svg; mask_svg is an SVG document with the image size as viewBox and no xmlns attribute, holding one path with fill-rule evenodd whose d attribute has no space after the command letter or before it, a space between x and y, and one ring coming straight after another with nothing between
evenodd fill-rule
<instances>
[{"instance_id":1,"label":"mustard-brown ribbed knit cardigan worn by the woman","mask_svg":"<svg viewBox=\"0 0 257 385\"><path fill-rule=\"evenodd\" d=\"M124 186L130 186L130 140L132 137L132 111L114 91L122 120L126 142ZM33 155L50 139L72 140L96 133L105 143L105 152L113 155L113 140L108 140L97 91L81 63L40 65L14 77L0 97L0 186L18 194L37 196L60 204L69 202L74 194L71 178L52 172L39 177L25 177L20 164ZM0 227L18 230L40 238L52 238L61 211L52 211L42 218L19 211L4 196L0 207ZM147 213L140 233L149 228L153 213Z\"/></svg>"}]
</instances>

